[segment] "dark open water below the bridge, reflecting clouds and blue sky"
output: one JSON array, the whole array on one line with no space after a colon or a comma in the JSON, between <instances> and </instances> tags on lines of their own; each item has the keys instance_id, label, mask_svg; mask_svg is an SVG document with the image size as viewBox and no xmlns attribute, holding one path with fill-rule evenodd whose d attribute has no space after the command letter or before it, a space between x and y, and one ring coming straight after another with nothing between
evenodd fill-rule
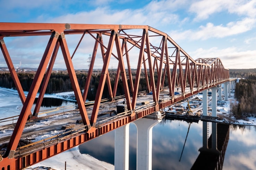
<instances>
[{"instance_id":1,"label":"dark open water below the bridge, reflecting clouds and blue sky","mask_svg":"<svg viewBox=\"0 0 256 170\"><path fill-rule=\"evenodd\" d=\"M195 168L203 153L203 122L163 120L153 128L152 169ZM207 136L208 149L212 148L212 123ZM189 128L189 133L188 133ZM136 169L137 137L136 127L130 124L129 169ZM256 168L256 128L255 126L216 125L217 149L220 154L204 153L203 158L212 164L207 169L255 169ZM188 135L187 135L188 133ZM186 144L184 142L187 136ZM184 150L181 156L182 148ZM81 153L114 164L114 132L109 132L79 146ZM210 150L211 151L211 150ZM200 155L201 154L201 155ZM180 159L181 157L181 159ZM179 161L180 159L180 161ZM196 169L196 168L195 168Z\"/></svg>"}]
</instances>

